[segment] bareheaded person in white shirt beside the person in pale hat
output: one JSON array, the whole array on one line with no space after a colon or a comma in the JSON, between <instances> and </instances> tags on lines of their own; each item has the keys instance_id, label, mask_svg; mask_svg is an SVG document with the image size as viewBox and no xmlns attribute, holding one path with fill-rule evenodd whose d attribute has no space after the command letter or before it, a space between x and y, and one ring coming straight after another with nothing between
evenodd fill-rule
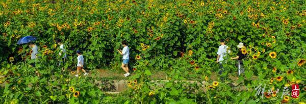
<instances>
[{"instance_id":1,"label":"bareheaded person in white shirt beside the person in pale hat","mask_svg":"<svg viewBox=\"0 0 306 104\"><path fill-rule=\"evenodd\" d=\"M219 74L222 74L223 71L223 65L225 63L224 57L227 53L230 53L230 50L227 50L227 46L225 45L225 41L223 39L220 40L220 46L218 48L217 52L217 60L216 63L219 63L221 70L219 71Z\"/></svg>"}]
</instances>

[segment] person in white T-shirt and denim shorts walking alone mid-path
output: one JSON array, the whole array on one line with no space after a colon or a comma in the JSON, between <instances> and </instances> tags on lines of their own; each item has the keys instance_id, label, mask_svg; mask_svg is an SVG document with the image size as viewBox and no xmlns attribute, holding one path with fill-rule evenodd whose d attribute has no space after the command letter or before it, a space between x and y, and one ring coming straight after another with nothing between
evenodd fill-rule
<instances>
[{"instance_id":1,"label":"person in white T-shirt and denim shorts walking alone mid-path","mask_svg":"<svg viewBox=\"0 0 306 104\"><path fill-rule=\"evenodd\" d=\"M123 49L122 50L118 50L119 54L122 55L122 59L123 59L123 62L121 64L121 68L126 72L124 74L125 77L129 76L130 75L130 72L129 72L129 61L130 61L130 48L129 46L127 46L127 42L125 40L121 41L121 44L123 46Z\"/></svg>"}]
</instances>

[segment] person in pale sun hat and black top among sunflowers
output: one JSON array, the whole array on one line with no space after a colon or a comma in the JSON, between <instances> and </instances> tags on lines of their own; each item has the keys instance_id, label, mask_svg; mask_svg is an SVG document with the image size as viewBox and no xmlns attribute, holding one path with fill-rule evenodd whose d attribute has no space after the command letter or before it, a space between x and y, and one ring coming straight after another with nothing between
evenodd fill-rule
<instances>
[{"instance_id":1,"label":"person in pale sun hat and black top among sunflowers","mask_svg":"<svg viewBox=\"0 0 306 104\"><path fill-rule=\"evenodd\" d=\"M244 68L243 68L243 59L247 56L247 51L243 45L242 42L240 42L237 47L239 48L238 50L238 54L237 54L237 57L235 58L231 58L233 60L238 60L238 64L237 64L237 67L238 67L238 76L241 74L241 73L244 73Z\"/></svg>"}]
</instances>

